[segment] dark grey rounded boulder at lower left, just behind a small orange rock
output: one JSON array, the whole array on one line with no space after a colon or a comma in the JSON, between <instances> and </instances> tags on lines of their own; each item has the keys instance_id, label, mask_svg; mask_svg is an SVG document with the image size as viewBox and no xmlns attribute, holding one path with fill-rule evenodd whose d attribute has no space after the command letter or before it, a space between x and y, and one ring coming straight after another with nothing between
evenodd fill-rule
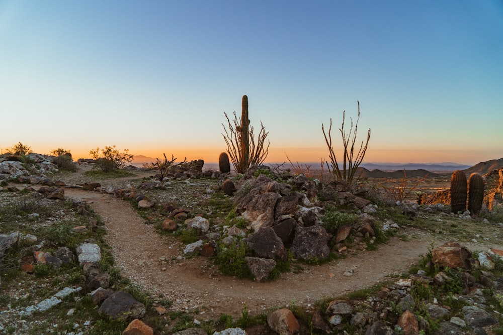
<instances>
[{"instance_id":1,"label":"dark grey rounded boulder at lower left, just behind a small orange rock","mask_svg":"<svg viewBox=\"0 0 503 335\"><path fill-rule=\"evenodd\" d=\"M100 306L99 312L116 320L141 318L145 306L127 292L115 292Z\"/></svg>"}]
</instances>

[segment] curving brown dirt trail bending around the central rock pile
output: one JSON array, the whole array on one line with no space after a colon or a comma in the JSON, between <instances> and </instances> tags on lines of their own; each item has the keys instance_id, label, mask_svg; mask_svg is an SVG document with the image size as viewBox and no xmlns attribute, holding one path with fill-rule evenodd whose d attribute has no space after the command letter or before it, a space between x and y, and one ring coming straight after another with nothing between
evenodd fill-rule
<instances>
[{"instance_id":1,"label":"curving brown dirt trail bending around the central rock pile","mask_svg":"<svg viewBox=\"0 0 503 335\"><path fill-rule=\"evenodd\" d=\"M307 305L370 287L389 275L405 272L433 241L423 232L407 229L411 241L394 238L377 251L350 254L322 266L305 265L301 273L286 273L274 282L259 283L222 276L204 257L176 260L185 246L171 236L156 234L128 202L74 188L66 189L65 195L86 201L105 221L106 241L125 276L154 293L154 298L162 294L176 309L204 310L202 318L237 315L243 303L255 314L268 307L292 302ZM356 268L354 274L344 276L352 267Z\"/></svg>"}]
</instances>

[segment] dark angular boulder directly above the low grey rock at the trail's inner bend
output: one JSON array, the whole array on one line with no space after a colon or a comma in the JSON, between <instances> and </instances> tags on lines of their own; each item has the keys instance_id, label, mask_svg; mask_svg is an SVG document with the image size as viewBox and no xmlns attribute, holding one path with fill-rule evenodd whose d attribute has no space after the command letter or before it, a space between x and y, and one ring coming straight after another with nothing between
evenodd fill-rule
<instances>
[{"instance_id":1,"label":"dark angular boulder directly above the low grey rock at the trail's inner bend","mask_svg":"<svg viewBox=\"0 0 503 335\"><path fill-rule=\"evenodd\" d=\"M283 242L271 227L262 227L256 233L248 235L247 243L259 257L282 261L288 259Z\"/></svg>"}]
</instances>

